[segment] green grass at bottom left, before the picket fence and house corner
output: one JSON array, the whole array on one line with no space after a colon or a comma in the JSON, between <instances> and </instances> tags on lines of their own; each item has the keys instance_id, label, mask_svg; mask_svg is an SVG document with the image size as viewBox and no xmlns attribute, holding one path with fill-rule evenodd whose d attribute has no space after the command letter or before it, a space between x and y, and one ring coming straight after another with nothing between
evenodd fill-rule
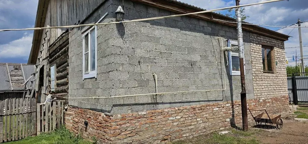
<instances>
[{"instance_id":1,"label":"green grass at bottom left, before the picket fence and house corner","mask_svg":"<svg viewBox=\"0 0 308 144\"><path fill-rule=\"evenodd\" d=\"M40 134L35 137L27 137L25 139L5 142L4 144L92 144L80 136L75 137L64 126L51 132L50 134Z\"/></svg>"}]
</instances>

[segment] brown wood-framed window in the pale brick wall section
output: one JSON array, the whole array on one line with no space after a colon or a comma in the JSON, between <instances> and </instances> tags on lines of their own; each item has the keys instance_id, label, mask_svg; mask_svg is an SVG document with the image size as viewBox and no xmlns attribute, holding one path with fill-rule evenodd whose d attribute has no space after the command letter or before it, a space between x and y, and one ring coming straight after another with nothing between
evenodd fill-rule
<instances>
[{"instance_id":1,"label":"brown wood-framed window in the pale brick wall section","mask_svg":"<svg viewBox=\"0 0 308 144\"><path fill-rule=\"evenodd\" d=\"M263 72L274 72L273 59L273 47L262 45Z\"/></svg>"}]
</instances>

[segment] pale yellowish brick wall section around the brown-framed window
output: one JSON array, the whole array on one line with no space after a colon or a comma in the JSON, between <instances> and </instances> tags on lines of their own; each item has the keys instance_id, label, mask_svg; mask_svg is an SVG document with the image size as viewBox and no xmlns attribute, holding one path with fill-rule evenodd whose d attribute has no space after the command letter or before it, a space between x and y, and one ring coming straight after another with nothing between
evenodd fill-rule
<instances>
[{"instance_id":1,"label":"pale yellowish brick wall section around the brown-framed window","mask_svg":"<svg viewBox=\"0 0 308 144\"><path fill-rule=\"evenodd\" d=\"M250 43L254 97L287 96L284 41L250 33ZM263 72L261 45L265 43L274 47L274 73Z\"/></svg>"}]
</instances>

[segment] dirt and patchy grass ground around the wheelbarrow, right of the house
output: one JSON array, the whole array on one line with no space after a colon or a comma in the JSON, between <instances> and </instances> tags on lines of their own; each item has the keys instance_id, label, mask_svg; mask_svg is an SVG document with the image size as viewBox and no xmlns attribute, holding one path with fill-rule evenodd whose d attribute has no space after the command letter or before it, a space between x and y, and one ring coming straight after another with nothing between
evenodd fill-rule
<instances>
[{"instance_id":1,"label":"dirt and patchy grass ground around the wheelbarrow, right of the house","mask_svg":"<svg viewBox=\"0 0 308 144\"><path fill-rule=\"evenodd\" d=\"M308 107L298 110L308 114ZM307 115L306 115L307 116ZM296 113L282 116L283 128L278 130L276 125L268 124L255 126L250 123L249 131L243 132L234 128L225 129L228 134L220 135L218 132L200 135L190 139L174 141L172 144L238 144L238 143L300 143L308 144L308 119L295 120ZM263 123L264 124L264 123Z\"/></svg>"}]
</instances>

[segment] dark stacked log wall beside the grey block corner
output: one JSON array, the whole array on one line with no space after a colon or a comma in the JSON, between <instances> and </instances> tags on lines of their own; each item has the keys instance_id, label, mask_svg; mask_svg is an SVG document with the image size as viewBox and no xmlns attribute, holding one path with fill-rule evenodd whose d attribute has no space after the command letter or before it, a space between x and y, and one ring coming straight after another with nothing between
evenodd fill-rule
<instances>
[{"instance_id":1,"label":"dark stacked log wall beside the grey block corner","mask_svg":"<svg viewBox=\"0 0 308 144\"><path fill-rule=\"evenodd\" d=\"M49 93L53 94L57 99L66 97L68 94L68 45L69 32L65 31L48 50L49 67L55 65L55 90L51 91L51 79L49 79ZM50 71L48 75L51 77Z\"/></svg>"}]
</instances>

